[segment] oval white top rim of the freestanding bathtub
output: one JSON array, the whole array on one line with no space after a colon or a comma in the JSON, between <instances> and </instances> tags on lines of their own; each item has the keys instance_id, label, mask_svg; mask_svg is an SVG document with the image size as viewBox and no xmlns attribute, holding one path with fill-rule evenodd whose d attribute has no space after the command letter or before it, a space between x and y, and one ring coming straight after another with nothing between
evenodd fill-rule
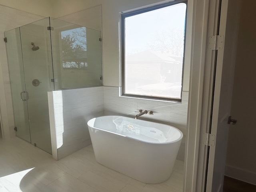
<instances>
[{"instance_id":1,"label":"oval white top rim of the freestanding bathtub","mask_svg":"<svg viewBox=\"0 0 256 192\"><path fill-rule=\"evenodd\" d=\"M90 127L90 128L94 128L94 129L97 129L97 130L101 130L101 131L104 131L104 132L109 132L111 134L116 134L116 135L119 135L119 136L122 136L122 137L126 137L126 138L130 138L130 139L133 139L133 140L137 140L137 141L140 141L140 142L144 142L144 143L149 143L149 144L170 144L170 143L175 143L175 142L178 142L180 140L182 140L183 138L183 133L181 130L179 130L178 128L174 127L174 126L171 126L171 125L168 125L168 124L164 124L164 123L157 123L157 122L152 122L152 121L147 121L147 120L141 120L141 119L138 119L139 121L144 121L144 122L152 122L152 123L156 123L156 124L162 124L162 125L165 125L165 126L170 126L176 130L178 130L178 132L180 132L180 137L174 141L170 141L170 142L148 142L148 141L143 141L143 140L139 140L139 139L136 139L136 138L132 138L132 137L129 137L129 136L126 136L126 135L122 135L122 134L119 134L119 133L115 133L115 132L111 132L111 131L108 131L108 130L105 130L105 129L101 129L101 128L96 128L94 126L91 126L89 125L92 124L92 121L96 118L101 118L101 117L125 117L125 118L130 118L130 119L133 119L131 117L127 117L127 116L118 116L118 115L103 115L103 116L98 116L98 117L94 117L94 118L91 118L90 120L88 120L87 122L87 126Z\"/></svg>"}]
</instances>

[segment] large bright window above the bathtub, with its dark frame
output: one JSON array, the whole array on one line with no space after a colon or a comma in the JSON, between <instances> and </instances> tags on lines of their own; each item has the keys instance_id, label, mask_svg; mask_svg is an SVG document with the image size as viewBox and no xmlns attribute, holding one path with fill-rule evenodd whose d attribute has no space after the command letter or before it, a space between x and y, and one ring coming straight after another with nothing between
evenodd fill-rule
<instances>
[{"instance_id":1,"label":"large bright window above the bathtub, with its dark frame","mask_svg":"<svg viewBox=\"0 0 256 192\"><path fill-rule=\"evenodd\" d=\"M122 95L181 100L186 1L122 14Z\"/></svg>"}]
</instances>

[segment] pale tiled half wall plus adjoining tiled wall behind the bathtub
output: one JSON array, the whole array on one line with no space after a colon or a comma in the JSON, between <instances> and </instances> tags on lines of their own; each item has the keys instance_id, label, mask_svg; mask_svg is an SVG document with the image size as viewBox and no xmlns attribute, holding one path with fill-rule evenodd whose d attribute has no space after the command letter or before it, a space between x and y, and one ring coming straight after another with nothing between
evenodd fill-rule
<instances>
[{"instance_id":1,"label":"pale tiled half wall plus adjoining tiled wall behind the bathtub","mask_svg":"<svg viewBox=\"0 0 256 192\"><path fill-rule=\"evenodd\" d=\"M152 110L142 120L169 124L183 134L177 159L184 160L188 92L182 102L163 102L119 97L118 87L94 87L48 92L53 157L57 160L90 144L87 121L96 116L122 115L134 118L135 111ZM54 150L55 149L55 150Z\"/></svg>"}]
</instances>

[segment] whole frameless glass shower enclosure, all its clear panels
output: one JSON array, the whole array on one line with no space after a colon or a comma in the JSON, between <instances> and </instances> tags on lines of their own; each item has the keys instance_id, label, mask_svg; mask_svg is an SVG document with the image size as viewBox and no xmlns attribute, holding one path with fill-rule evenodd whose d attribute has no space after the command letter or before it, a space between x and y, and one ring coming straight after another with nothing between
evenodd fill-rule
<instances>
[{"instance_id":1,"label":"whole frameless glass shower enclosure, all its clear panels","mask_svg":"<svg viewBox=\"0 0 256 192\"><path fill-rule=\"evenodd\" d=\"M44 18L4 34L16 136L52 154L47 92L102 86L101 32Z\"/></svg>"}]
</instances>

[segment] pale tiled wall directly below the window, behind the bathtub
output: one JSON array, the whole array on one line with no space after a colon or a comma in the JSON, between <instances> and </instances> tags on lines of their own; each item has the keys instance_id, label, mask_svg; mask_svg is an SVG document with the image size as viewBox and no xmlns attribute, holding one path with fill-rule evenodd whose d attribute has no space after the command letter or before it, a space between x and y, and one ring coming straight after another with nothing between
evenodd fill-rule
<instances>
[{"instance_id":1,"label":"pale tiled wall directly below the window, behind the bathtub","mask_svg":"<svg viewBox=\"0 0 256 192\"><path fill-rule=\"evenodd\" d=\"M183 139L177 159L184 161L188 92L182 92L182 102L164 102L119 97L118 87L104 86L104 115L123 115L133 118L137 114L135 111L140 109L154 112L154 115L146 114L140 119L168 124L182 131Z\"/></svg>"}]
</instances>

